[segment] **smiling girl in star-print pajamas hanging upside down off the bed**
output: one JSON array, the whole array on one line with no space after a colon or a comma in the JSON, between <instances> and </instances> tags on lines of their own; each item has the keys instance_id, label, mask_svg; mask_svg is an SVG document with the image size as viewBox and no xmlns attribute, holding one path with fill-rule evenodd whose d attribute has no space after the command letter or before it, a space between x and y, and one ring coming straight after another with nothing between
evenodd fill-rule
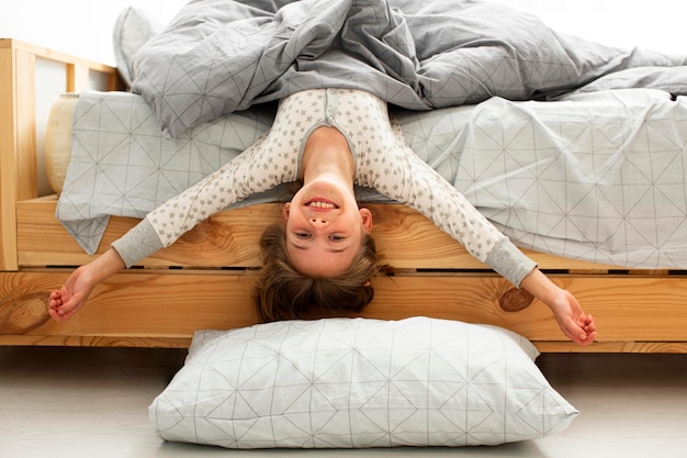
<instances>
[{"instance_id":1,"label":"smiling girl in star-print pajamas hanging upside down off the bed","mask_svg":"<svg viewBox=\"0 0 687 458\"><path fill-rule=\"evenodd\" d=\"M261 241L264 267L256 302L264 321L305 316L315 306L360 311L371 301L370 278L379 267L372 214L358 206L357 183L431 219L475 258L549 305L572 340L586 345L596 337L593 316L575 298L405 144L386 103L349 89L314 89L283 99L272 127L251 147L75 270L50 293L50 315L67 320L100 281L171 245L214 212L297 180L303 186L284 205L283 224L268 228Z\"/></svg>"}]
</instances>

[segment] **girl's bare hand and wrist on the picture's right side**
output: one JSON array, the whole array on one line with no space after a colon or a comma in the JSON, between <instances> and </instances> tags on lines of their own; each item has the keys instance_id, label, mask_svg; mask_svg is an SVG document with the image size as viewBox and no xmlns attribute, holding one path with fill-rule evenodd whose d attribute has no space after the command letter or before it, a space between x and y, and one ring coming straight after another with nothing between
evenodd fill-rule
<instances>
[{"instance_id":1,"label":"girl's bare hand and wrist on the picture's right side","mask_svg":"<svg viewBox=\"0 0 687 458\"><path fill-rule=\"evenodd\" d=\"M575 297L555 286L539 269L522 279L520 287L549 305L561 331L578 345L588 345L596 338L596 321L586 314Z\"/></svg>"}]
</instances>

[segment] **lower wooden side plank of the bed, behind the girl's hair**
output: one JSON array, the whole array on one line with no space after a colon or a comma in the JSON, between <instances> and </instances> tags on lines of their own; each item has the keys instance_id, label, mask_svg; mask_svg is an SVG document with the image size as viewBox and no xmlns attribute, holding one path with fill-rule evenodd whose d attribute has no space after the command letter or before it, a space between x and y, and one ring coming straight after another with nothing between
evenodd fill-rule
<instances>
[{"instance_id":1,"label":"lower wooden side plank of the bed, behind the girl's hair","mask_svg":"<svg viewBox=\"0 0 687 458\"><path fill-rule=\"evenodd\" d=\"M47 294L68 275L67 269L0 273L0 335L25 335L31 343L61 338L64 345L166 346L169 342L179 346L196 329L258 322L251 305L252 272L160 270L112 277L93 291L81 312L57 323L47 319ZM617 343L687 342L687 284L682 279L644 277L623 283L607 276L563 276L554 281L596 315L600 344L613 344L622 351L651 351L661 347L618 347ZM373 286L375 299L361 316L425 315L494 324L534 343L547 343L543 348L551 349L555 342L564 344L556 350L568 348L545 305L534 301L519 312L498 306L499 298L511 288L498 276L395 276L378 278Z\"/></svg>"}]
</instances>

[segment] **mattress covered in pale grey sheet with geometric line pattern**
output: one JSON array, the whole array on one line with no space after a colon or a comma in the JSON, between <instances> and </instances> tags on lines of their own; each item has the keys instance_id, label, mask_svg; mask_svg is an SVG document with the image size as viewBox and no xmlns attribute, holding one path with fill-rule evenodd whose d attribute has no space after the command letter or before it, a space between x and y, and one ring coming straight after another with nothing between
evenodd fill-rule
<instances>
[{"instance_id":1,"label":"mattress covered in pale grey sheet with geometric line pattern","mask_svg":"<svg viewBox=\"0 0 687 458\"><path fill-rule=\"evenodd\" d=\"M94 253L111 215L143 217L236 157L269 129L274 105L221 116L173 139L133 93L83 92L74 110L54 113L71 116L70 130L55 132L53 116L48 127L71 144L56 216ZM392 114L409 146L516 245L622 267L687 268L683 97L613 89ZM65 163L55 149L48 156ZM288 201L292 188L233 208ZM361 202L391 202L369 189L357 193Z\"/></svg>"}]
</instances>

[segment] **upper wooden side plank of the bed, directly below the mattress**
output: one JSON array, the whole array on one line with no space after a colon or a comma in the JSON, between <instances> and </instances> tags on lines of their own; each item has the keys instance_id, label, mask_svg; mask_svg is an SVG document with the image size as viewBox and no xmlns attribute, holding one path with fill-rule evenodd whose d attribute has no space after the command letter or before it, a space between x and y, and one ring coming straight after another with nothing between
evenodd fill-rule
<instances>
[{"instance_id":1,"label":"upper wooden side plank of the bed, directly below the mattress","mask_svg":"<svg viewBox=\"0 0 687 458\"><path fill-rule=\"evenodd\" d=\"M57 198L18 202L18 245L22 266L76 266L92 259L55 220ZM465 248L417 211L401 204L369 204L382 262L395 269L486 269ZM257 267L262 230L280 221L281 204L264 203L218 212L174 245L143 259L146 267ZM138 220L111 217L98 254ZM542 269L599 272L611 266L523 250Z\"/></svg>"}]
</instances>

